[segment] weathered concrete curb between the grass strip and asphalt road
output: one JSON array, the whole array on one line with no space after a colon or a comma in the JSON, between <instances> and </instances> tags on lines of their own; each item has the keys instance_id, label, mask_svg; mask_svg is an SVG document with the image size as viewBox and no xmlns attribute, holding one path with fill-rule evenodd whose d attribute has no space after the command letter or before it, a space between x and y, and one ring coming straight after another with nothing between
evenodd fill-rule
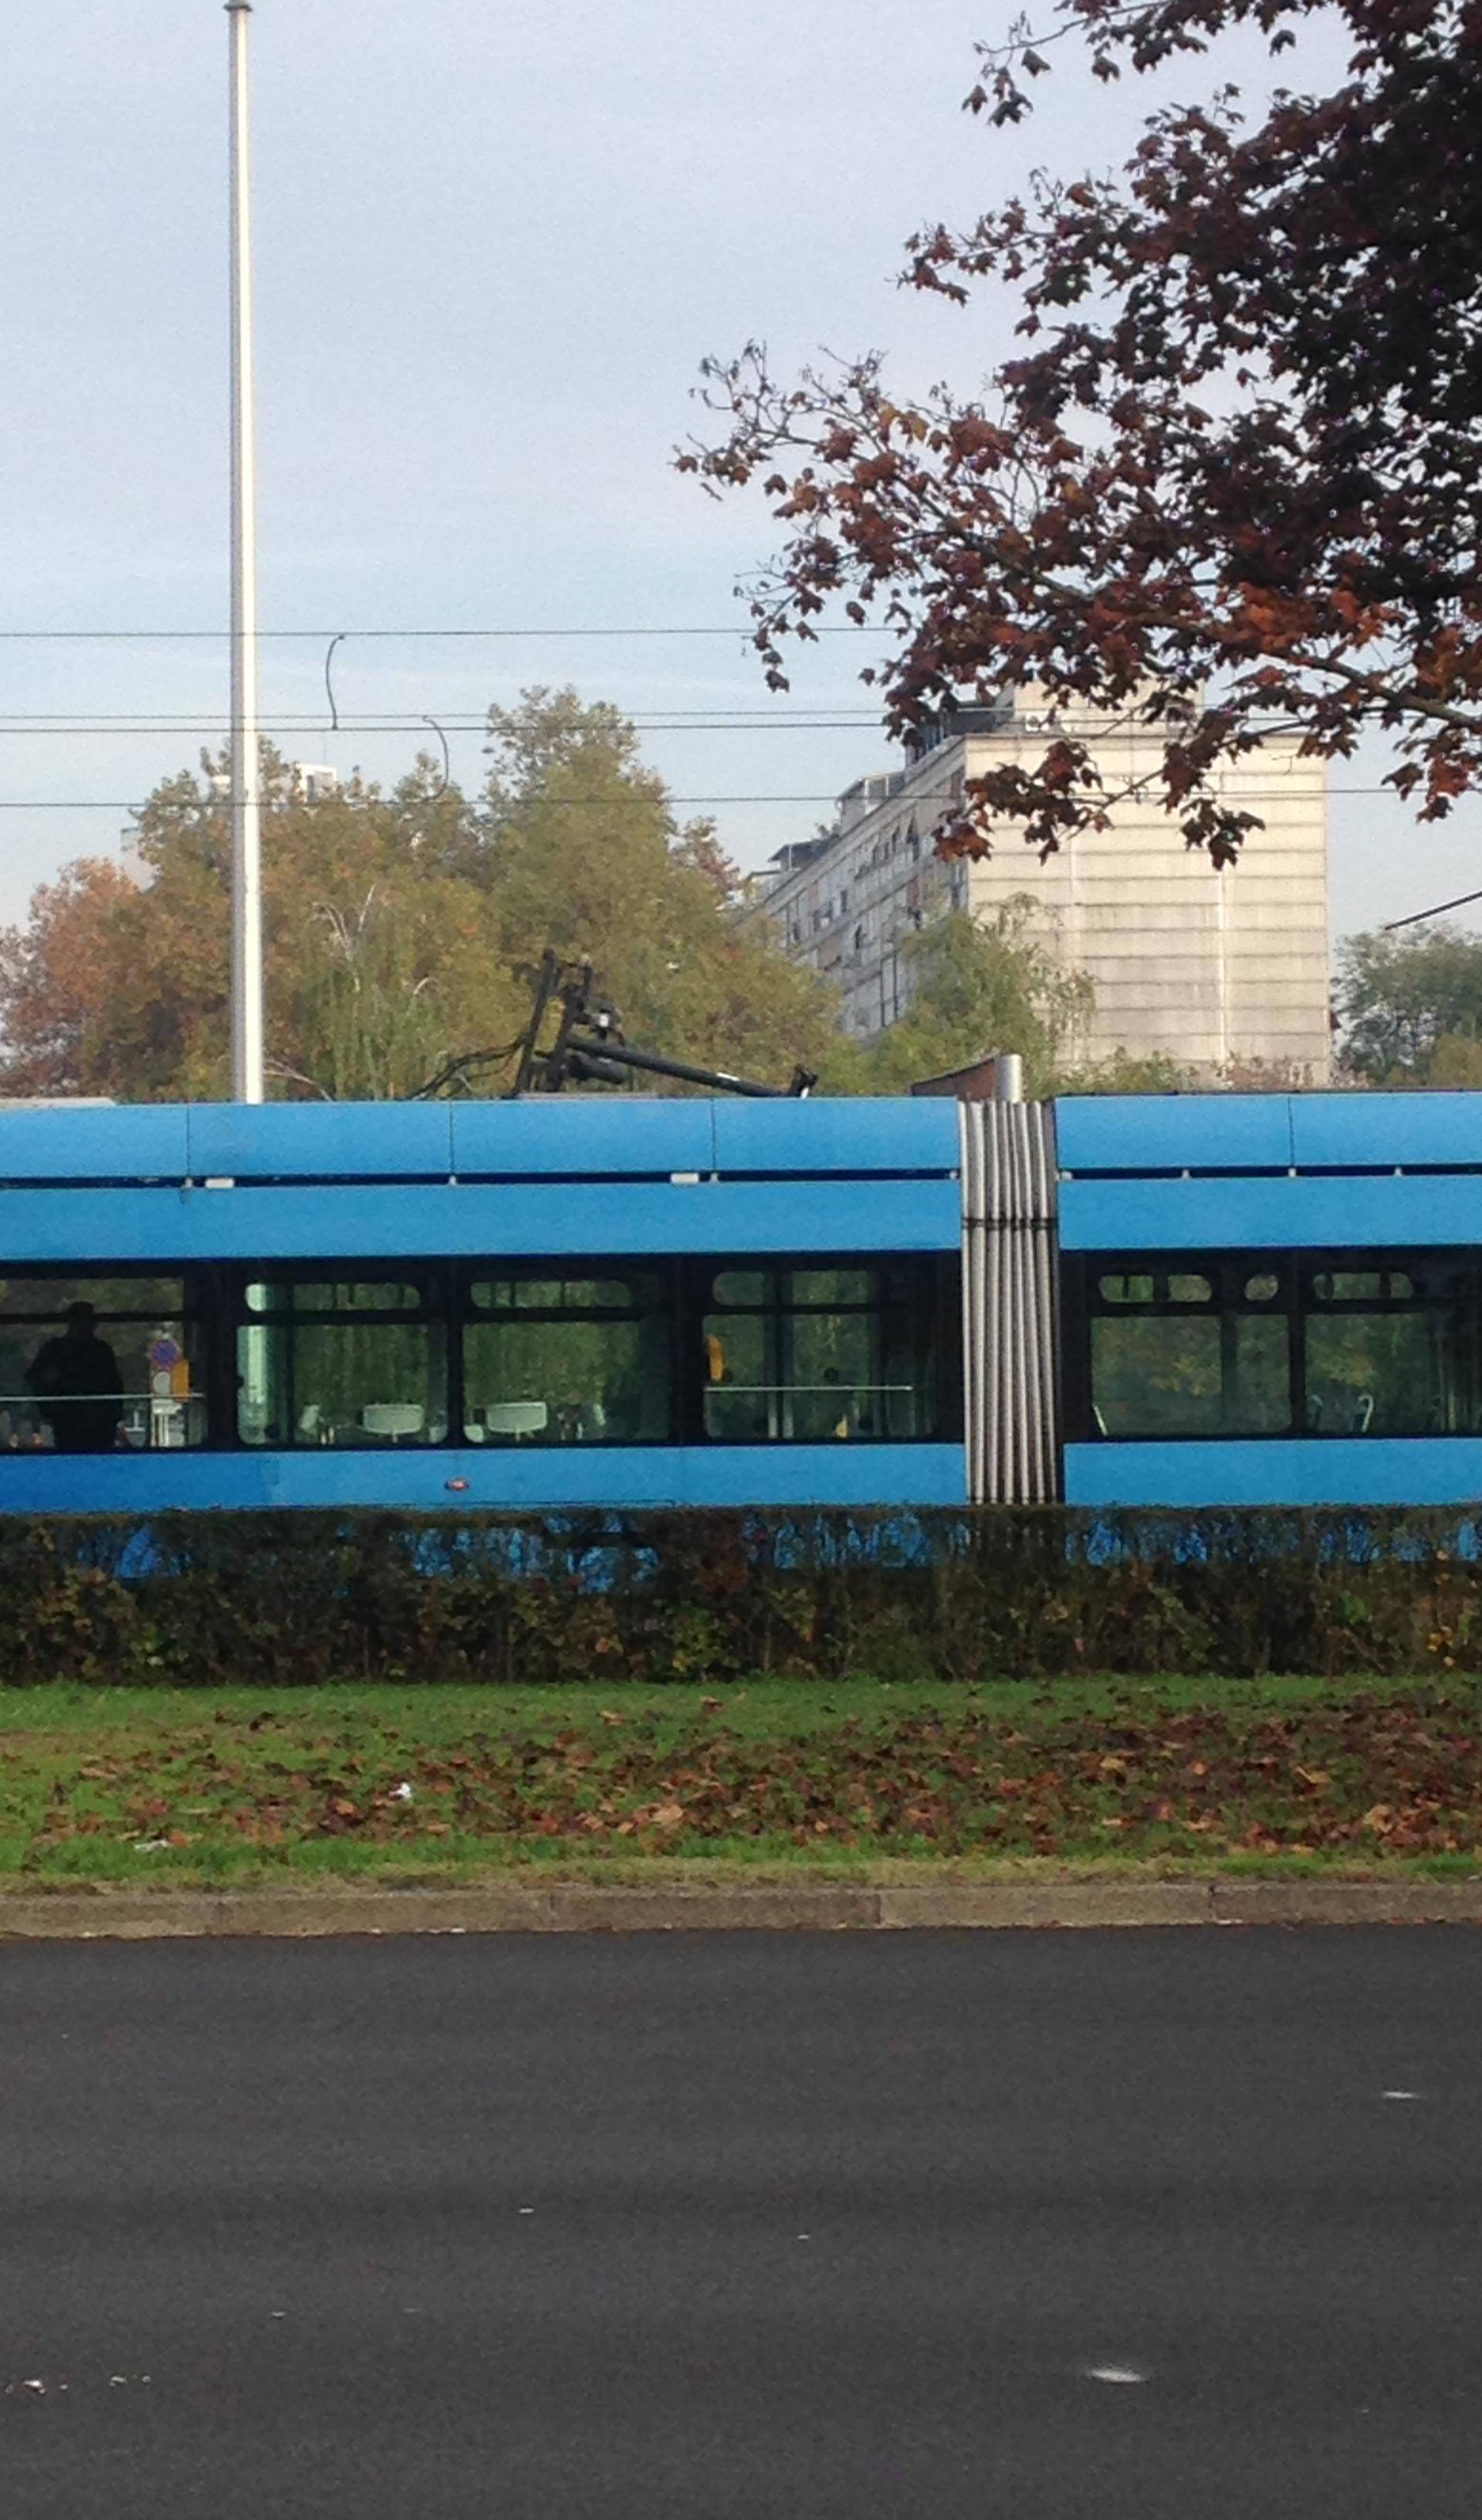
<instances>
[{"instance_id":1,"label":"weathered concrete curb between the grass strip and asphalt road","mask_svg":"<svg viewBox=\"0 0 1482 2520\"><path fill-rule=\"evenodd\" d=\"M1479 1880L484 1882L471 1890L0 1895L0 1940L202 1935L852 1933L1124 1925L1482 1925Z\"/></svg>"}]
</instances>

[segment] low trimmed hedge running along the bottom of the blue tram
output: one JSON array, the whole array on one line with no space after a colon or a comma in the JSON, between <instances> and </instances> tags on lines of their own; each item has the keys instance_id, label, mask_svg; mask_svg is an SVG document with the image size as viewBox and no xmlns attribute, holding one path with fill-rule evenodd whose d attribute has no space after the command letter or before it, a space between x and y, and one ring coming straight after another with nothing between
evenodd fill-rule
<instances>
[{"instance_id":1,"label":"low trimmed hedge running along the bottom of the blue tram","mask_svg":"<svg viewBox=\"0 0 1482 2520\"><path fill-rule=\"evenodd\" d=\"M0 1517L0 1686L1482 1671L1457 1512Z\"/></svg>"}]
</instances>

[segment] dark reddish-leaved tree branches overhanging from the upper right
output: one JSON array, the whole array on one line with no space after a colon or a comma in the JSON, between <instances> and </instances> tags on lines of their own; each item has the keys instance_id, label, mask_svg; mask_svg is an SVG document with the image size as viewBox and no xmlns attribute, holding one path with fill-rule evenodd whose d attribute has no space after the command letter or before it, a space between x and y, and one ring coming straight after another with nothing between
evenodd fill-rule
<instances>
[{"instance_id":1,"label":"dark reddish-leaved tree branches overhanging from the upper right","mask_svg":"<svg viewBox=\"0 0 1482 2520\"><path fill-rule=\"evenodd\" d=\"M681 466L759 481L786 529L751 587L776 688L842 602L895 633L892 733L1013 685L1064 713L945 852L1104 819L1104 711L1164 728L1162 799L1215 862L1255 827L1220 771L1273 728L1321 756L1386 731L1422 819L1482 776L1482 0L1059 0L980 48L968 106L1018 123L1056 43L1112 81L1240 30L1283 53L1308 18L1343 23L1331 93L1248 129L1220 86L1152 113L1119 179L1038 174L910 242L915 287L1021 300L988 401L902 406L880 358L794 386L756 345L706 363L726 436Z\"/></svg>"}]
</instances>

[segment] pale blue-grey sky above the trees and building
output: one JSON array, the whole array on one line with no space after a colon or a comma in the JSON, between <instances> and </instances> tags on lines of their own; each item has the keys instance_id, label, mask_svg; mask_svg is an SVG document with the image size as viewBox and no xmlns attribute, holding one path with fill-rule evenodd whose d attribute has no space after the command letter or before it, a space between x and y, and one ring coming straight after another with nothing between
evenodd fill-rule
<instances>
[{"instance_id":1,"label":"pale blue-grey sky above the trees and building","mask_svg":"<svg viewBox=\"0 0 1482 2520\"><path fill-rule=\"evenodd\" d=\"M1099 164L1147 93L1046 88L1028 134L960 111L1003 0L257 0L262 620L267 627L726 625L708 640L355 643L340 713L479 713L575 680L635 716L766 711L733 580L769 544L670 471L703 350L781 365L882 345L970 383L988 310L902 297L925 217L970 217L1033 159ZM224 71L217 0L8 0L0 93L0 627L217 630L224 537ZM1197 86L1197 71L1182 73ZM1051 111L1054 108L1054 111ZM867 711L854 640L794 711ZM212 718L224 643L0 643L0 721ZM302 759L406 766L413 736L328 736L323 648L265 650ZM0 799L134 799L199 738L0 723ZM887 759L870 716L648 733L681 796L832 796ZM479 736L454 736L474 784ZM1338 766L1366 786L1381 761ZM716 804L756 862L819 816ZM0 917L113 811L0 814ZM1336 927L1482 882L1479 806L1416 832L1333 796Z\"/></svg>"}]
</instances>

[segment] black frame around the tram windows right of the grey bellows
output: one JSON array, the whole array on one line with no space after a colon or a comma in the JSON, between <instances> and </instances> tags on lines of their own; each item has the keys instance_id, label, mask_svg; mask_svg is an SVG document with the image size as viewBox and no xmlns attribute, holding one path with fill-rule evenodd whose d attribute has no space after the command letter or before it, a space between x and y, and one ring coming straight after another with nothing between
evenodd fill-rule
<instances>
[{"instance_id":1,"label":"black frame around the tram windows right of the grey bellows","mask_svg":"<svg viewBox=\"0 0 1482 2520\"><path fill-rule=\"evenodd\" d=\"M1104 1280L1157 1280L1202 1275L1212 1285L1212 1305L1149 1298L1124 1303L1109 1298ZM1404 1280L1404 1288L1379 1293L1321 1295L1323 1278L1351 1280ZM1255 1298L1255 1280L1273 1280L1273 1293ZM1429 1285L1427 1285L1429 1280ZM1437 1283L1447 1293L1437 1293ZM1225 1313L1250 1318L1265 1313L1285 1320L1288 1346L1288 1426L1270 1431L1106 1431L1094 1378L1094 1323L1099 1318L1190 1318L1200 1313ZM1419 1424L1422 1414L1434 1419L1434 1401L1424 1411L1399 1424L1386 1424L1374 1409L1371 1394L1356 1394L1356 1406L1343 1421L1313 1424L1308 1401L1318 1381L1311 1326L1341 1318L1434 1318L1449 1315L1454 1353L1462 1358L1454 1381L1442 1391L1442 1409L1452 1409L1454 1424ZM1139 1250L1139 1252L1066 1252L1061 1263L1061 1366L1064 1366L1064 1424L1071 1444L1235 1444L1235 1441L1406 1441L1482 1434L1482 1250L1477 1245L1321 1245L1306 1250ZM1316 1399L1316 1394L1313 1394ZM1369 1404L1369 1406L1364 1406ZM1376 1424L1379 1419L1379 1424Z\"/></svg>"}]
</instances>

